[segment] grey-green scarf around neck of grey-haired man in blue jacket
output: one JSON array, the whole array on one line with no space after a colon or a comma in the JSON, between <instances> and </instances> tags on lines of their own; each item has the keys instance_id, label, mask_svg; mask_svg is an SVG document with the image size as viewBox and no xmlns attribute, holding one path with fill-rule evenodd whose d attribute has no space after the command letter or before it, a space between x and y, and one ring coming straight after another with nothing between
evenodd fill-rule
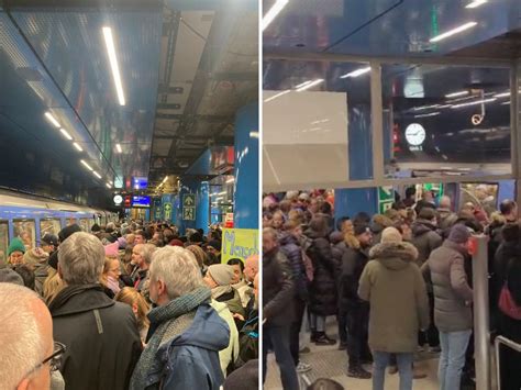
<instances>
[{"instance_id":1,"label":"grey-green scarf around neck of grey-haired man in blue jacket","mask_svg":"<svg viewBox=\"0 0 521 390\"><path fill-rule=\"evenodd\" d=\"M146 378L156 365L156 354L168 325L179 316L195 311L202 303L210 302L211 292L208 287L199 287L188 294L176 298L165 304L151 310L148 320L151 321L151 331L154 332L140 357L132 375L130 390L143 390L146 385ZM155 330L155 331L153 331Z\"/></svg>"}]
</instances>

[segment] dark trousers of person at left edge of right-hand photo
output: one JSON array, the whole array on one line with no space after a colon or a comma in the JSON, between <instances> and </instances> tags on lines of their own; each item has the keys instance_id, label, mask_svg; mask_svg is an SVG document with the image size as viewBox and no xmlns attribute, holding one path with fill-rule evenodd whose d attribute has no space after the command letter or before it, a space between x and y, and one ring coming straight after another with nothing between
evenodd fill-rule
<instances>
[{"instance_id":1,"label":"dark trousers of person at left edge of right-hand photo","mask_svg":"<svg viewBox=\"0 0 521 390\"><path fill-rule=\"evenodd\" d=\"M275 360L280 369L280 381L284 390L299 390L299 380L295 363L289 350L288 326L263 326L263 383L266 381L268 350L275 353Z\"/></svg>"}]
</instances>

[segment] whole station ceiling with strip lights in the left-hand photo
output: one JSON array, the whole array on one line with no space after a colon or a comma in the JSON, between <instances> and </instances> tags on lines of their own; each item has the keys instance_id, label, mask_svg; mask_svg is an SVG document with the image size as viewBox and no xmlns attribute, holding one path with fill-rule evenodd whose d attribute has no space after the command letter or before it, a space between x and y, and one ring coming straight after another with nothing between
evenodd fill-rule
<instances>
[{"instance_id":1,"label":"whole station ceiling with strip lights in the left-hand photo","mask_svg":"<svg viewBox=\"0 0 521 390\"><path fill-rule=\"evenodd\" d=\"M0 1L0 186L100 203L233 145L257 18L250 0Z\"/></svg>"}]
</instances>

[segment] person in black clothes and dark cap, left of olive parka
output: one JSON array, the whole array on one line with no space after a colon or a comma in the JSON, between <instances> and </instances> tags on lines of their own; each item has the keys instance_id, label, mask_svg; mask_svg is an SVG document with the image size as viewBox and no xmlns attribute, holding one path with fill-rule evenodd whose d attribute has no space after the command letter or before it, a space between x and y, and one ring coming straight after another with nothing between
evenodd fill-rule
<instances>
[{"instance_id":1,"label":"person in black clothes and dark cap, left of olive parka","mask_svg":"<svg viewBox=\"0 0 521 390\"><path fill-rule=\"evenodd\" d=\"M372 356L367 344L369 304L358 297L358 280L369 260L369 247L373 239L369 225L357 223L354 235L346 234L347 248L342 256L339 277L339 309L345 315L347 327L347 376L358 379L370 379L369 371L362 363L370 363Z\"/></svg>"}]
</instances>

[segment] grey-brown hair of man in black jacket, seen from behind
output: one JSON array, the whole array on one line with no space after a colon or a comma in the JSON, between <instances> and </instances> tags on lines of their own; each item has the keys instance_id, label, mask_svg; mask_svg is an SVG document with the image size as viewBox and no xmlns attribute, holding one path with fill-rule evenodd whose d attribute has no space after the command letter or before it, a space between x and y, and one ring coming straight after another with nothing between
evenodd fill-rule
<instances>
[{"instance_id":1,"label":"grey-brown hair of man in black jacket, seen from behind","mask_svg":"<svg viewBox=\"0 0 521 390\"><path fill-rule=\"evenodd\" d=\"M93 235L78 232L58 249L58 265L67 285L98 283L104 266L104 248Z\"/></svg>"}]
</instances>

